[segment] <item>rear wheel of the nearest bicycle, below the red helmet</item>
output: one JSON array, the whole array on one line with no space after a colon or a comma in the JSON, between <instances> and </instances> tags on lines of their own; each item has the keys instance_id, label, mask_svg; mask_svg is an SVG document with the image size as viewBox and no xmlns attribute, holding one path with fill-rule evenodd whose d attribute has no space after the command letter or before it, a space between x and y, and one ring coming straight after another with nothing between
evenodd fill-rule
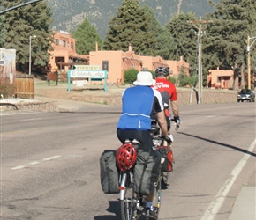
<instances>
[{"instance_id":1,"label":"rear wheel of the nearest bicycle, below the red helmet","mask_svg":"<svg viewBox=\"0 0 256 220\"><path fill-rule=\"evenodd\" d=\"M137 200L132 187L125 187L124 200L120 201L122 220L137 219Z\"/></svg>"}]
</instances>

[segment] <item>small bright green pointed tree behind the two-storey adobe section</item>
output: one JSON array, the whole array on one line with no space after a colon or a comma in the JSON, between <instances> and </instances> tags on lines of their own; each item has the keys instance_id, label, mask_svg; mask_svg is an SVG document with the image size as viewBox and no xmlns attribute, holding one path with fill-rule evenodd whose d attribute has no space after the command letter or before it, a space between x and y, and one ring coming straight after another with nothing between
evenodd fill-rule
<instances>
[{"instance_id":1,"label":"small bright green pointed tree behind the two-storey adobe section","mask_svg":"<svg viewBox=\"0 0 256 220\"><path fill-rule=\"evenodd\" d=\"M79 55L88 55L90 51L95 50L95 42L98 42L99 48L102 48L102 39L87 18L72 33L72 37L77 40L76 52Z\"/></svg>"}]
</instances>

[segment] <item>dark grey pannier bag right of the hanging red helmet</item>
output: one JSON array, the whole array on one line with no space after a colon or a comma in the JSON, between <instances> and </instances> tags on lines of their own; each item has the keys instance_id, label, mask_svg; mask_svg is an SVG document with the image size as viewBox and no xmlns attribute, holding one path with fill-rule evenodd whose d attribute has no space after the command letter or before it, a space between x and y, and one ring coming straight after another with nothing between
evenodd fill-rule
<instances>
[{"instance_id":1,"label":"dark grey pannier bag right of the hanging red helmet","mask_svg":"<svg viewBox=\"0 0 256 220\"><path fill-rule=\"evenodd\" d=\"M139 150L134 167L134 191L137 194L154 193L161 171L161 155L156 150L151 152Z\"/></svg>"}]
</instances>

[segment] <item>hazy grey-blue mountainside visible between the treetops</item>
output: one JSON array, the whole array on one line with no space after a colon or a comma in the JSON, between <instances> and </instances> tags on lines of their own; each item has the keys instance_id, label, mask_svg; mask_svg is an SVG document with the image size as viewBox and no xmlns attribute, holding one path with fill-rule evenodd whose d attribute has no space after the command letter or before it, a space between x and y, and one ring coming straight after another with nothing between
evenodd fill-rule
<instances>
[{"instance_id":1,"label":"hazy grey-blue mountainside visible between the treetops","mask_svg":"<svg viewBox=\"0 0 256 220\"><path fill-rule=\"evenodd\" d=\"M87 18L104 40L109 30L109 20L117 15L123 0L47 0L53 12L51 29L72 33ZM197 17L205 17L213 11L207 0L140 0L154 10L155 18L164 26L178 12L192 12ZM218 3L219 0L215 0Z\"/></svg>"}]
</instances>

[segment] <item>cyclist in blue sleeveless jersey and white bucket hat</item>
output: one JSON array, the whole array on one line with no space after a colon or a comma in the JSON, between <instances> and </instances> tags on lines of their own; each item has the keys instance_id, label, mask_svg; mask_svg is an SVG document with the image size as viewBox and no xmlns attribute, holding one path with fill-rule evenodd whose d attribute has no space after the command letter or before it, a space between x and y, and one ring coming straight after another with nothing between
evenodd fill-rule
<instances>
[{"instance_id":1,"label":"cyclist in blue sleeveless jersey and white bucket hat","mask_svg":"<svg viewBox=\"0 0 256 220\"><path fill-rule=\"evenodd\" d=\"M151 88L154 83L151 72L140 71L133 83L136 86L124 90L122 115L117 123L117 137L121 143L124 143L125 139L137 139L141 150L151 151L154 145L151 136L153 114L157 116L162 136L169 139L162 96L160 92ZM152 199L153 194L147 196L148 216L153 213Z\"/></svg>"}]
</instances>

